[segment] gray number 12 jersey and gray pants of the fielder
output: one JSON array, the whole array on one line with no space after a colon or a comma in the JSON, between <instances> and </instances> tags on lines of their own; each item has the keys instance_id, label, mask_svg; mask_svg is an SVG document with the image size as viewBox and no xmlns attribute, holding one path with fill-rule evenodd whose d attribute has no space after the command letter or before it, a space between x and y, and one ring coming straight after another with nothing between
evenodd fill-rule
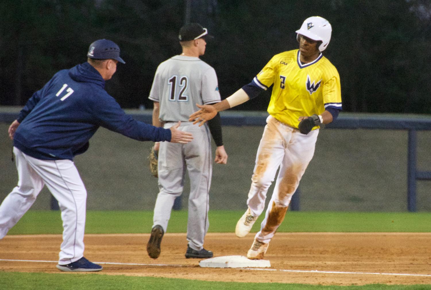
<instances>
[{"instance_id":1,"label":"gray number 12 jersey and gray pants of the fielder","mask_svg":"<svg viewBox=\"0 0 431 290\"><path fill-rule=\"evenodd\" d=\"M150 100L159 102L159 119L164 128L181 121L178 130L191 132L187 144L162 142L159 148L159 194L154 206L153 227L167 231L175 198L184 189L186 171L190 178L187 241L192 249L203 248L208 231L209 187L212 175L211 135L208 126L188 122L196 103L220 102L214 69L198 57L174 56L162 62L154 76Z\"/></svg>"}]
</instances>

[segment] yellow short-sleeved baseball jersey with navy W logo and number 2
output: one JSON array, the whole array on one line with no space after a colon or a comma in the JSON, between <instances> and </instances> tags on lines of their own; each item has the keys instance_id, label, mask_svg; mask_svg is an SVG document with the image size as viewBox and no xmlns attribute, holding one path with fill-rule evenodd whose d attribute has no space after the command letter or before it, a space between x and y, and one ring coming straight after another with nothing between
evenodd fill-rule
<instances>
[{"instance_id":1,"label":"yellow short-sleeved baseball jersey with navy W logo and number 2","mask_svg":"<svg viewBox=\"0 0 431 290\"><path fill-rule=\"evenodd\" d=\"M299 50L277 54L253 79L264 90L274 84L268 112L294 128L298 128L300 116L319 115L329 107L341 110L340 76L335 66L322 53L305 64L299 56Z\"/></svg>"}]
</instances>

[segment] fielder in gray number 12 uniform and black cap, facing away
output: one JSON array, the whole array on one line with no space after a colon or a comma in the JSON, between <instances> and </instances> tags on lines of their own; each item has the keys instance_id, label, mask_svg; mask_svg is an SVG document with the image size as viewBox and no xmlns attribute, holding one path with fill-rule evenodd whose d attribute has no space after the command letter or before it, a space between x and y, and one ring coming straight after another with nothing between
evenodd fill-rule
<instances>
[{"instance_id":1,"label":"fielder in gray number 12 uniform and black cap, facing away","mask_svg":"<svg viewBox=\"0 0 431 290\"><path fill-rule=\"evenodd\" d=\"M196 104L220 102L220 93L215 70L199 59L205 53L206 39L212 37L200 24L189 23L179 32L181 55L162 62L156 70L150 100L154 102L153 125L170 128L181 121L179 130L193 134L187 145L172 146L168 142L154 145L159 151L159 194L154 207L153 228L147 244L148 255L156 259L160 255L160 243L168 227L175 198L184 187L187 169L190 178L188 201L186 258L211 258L212 252L203 248L208 231L209 187L212 175L211 139L217 149L215 162L226 164L228 155L222 141L220 115L199 127L189 122L191 113L197 111Z\"/></svg>"}]
</instances>

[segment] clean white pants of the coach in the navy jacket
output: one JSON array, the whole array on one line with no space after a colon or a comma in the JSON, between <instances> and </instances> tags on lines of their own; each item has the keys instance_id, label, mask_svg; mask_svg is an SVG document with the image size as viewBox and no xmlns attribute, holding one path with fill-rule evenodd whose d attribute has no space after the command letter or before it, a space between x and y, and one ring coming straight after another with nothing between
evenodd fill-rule
<instances>
[{"instance_id":1,"label":"clean white pants of the coach in the navy jacket","mask_svg":"<svg viewBox=\"0 0 431 290\"><path fill-rule=\"evenodd\" d=\"M40 160L14 147L18 185L0 205L0 239L6 236L30 209L47 185L58 200L63 221L63 243L59 264L66 265L84 255L84 228L87 191L75 164L70 160Z\"/></svg>"}]
</instances>

